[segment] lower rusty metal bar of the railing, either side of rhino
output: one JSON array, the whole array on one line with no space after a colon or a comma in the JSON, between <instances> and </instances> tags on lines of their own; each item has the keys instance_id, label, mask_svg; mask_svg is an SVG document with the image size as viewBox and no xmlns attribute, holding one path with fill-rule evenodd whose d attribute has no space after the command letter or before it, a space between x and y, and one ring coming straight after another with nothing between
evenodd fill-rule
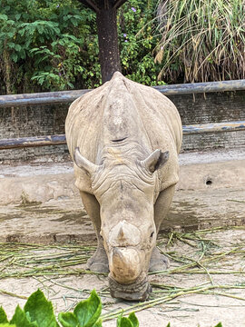
<instances>
[{"instance_id":1,"label":"lower rusty metal bar of the railing, either side of rhino","mask_svg":"<svg viewBox=\"0 0 245 327\"><path fill-rule=\"evenodd\" d=\"M245 131L245 121L184 125L182 130L184 135ZM58 144L66 144L65 134L2 139L0 150Z\"/></svg>"}]
</instances>

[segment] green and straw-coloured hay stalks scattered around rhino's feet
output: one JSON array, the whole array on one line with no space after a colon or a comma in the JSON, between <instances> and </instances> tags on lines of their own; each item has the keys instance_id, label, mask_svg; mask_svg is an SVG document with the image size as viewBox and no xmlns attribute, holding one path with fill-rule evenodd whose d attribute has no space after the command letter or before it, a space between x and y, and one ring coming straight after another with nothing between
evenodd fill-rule
<instances>
[{"instance_id":1,"label":"green and straw-coloured hay stalks scattered around rhino's feet","mask_svg":"<svg viewBox=\"0 0 245 327\"><path fill-rule=\"evenodd\" d=\"M160 235L158 247L162 253L170 258L171 269L149 273L150 279L152 280L153 278L150 299L146 302L128 305L123 310L110 310L110 305L114 302L110 298L107 287L103 287L100 291L97 290L103 300L107 298L104 308L109 309L109 311L103 314L103 321L111 320L120 313L139 312L162 303L172 303L176 299L180 303L181 300L179 299L189 294L220 295L245 301L245 297L233 293L234 290L245 289L245 282L238 280L234 282L234 279L230 279L229 283L220 284L215 281L215 276L220 274L244 278L244 240L242 241L241 238L240 240L234 240L233 243L225 243L224 245L224 240L219 239L221 233L230 233L231 231L235 232L244 229L244 226L230 227L230 229L217 227L194 233L171 232L168 235ZM164 245L166 248L164 248ZM95 246L79 243L67 245L0 243L0 278L34 278L44 288L58 285L75 292L76 295L67 294L66 297L67 299L73 297L73 305L75 305L76 302L85 298L91 290L81 290L66 285L64 282L60 282L59 278L84 274L96 274L98 278L105 276L104 273L90 272L84 269L84 264L94 250ZM239 267L236 264L236 269L233 268L234 260L236 263L240 263ZM185 287L184 285L180 286L176 283L169 284L168 282L163 283L161 281L162 276L170 278L175 274L181 274L183 277L188 276L188 278L190 275L202 274L207 276L207 282ZM48 282L49 286L46 286L46 282ZM197 281L195 282L198 283ZM21 299L26 298L23 295L5 290L0 290L0 293ZM71 309L71 306L67 306L67 311Z\"/></svg>"}]
</instances>

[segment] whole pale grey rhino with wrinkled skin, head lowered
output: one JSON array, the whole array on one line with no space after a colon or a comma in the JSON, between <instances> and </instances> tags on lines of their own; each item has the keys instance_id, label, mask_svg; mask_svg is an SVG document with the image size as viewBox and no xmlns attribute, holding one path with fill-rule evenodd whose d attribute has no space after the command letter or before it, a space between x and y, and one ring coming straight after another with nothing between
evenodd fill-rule
<instances>
[{"instance_id":1,"label":"whole pale grey rhino with wrinkled skin, head lowered","mask_svg":"<svg viewBox=\"0 0 245 327\"><path fill-rule=\"evenodd\" d=\"M73 102L65 132L98 238L88 267L110 272L113 297L144 300L147 272L168 266L155 244L178 182L180 116L158 91L115 73Z\"/></svg>"}]
</instances>

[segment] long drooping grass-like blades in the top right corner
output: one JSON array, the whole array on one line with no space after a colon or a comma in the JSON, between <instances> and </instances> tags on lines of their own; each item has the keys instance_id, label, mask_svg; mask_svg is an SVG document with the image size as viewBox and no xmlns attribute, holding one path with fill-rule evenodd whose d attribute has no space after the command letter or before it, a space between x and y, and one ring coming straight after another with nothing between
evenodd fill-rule
<instances>
[{"instance_id":1,"label":"long drooping grass-like blades in the top right corner","mask_svg":"<svg viewBox=\"0 0 245 327\"><path fill-rule=\"evenodd\" d=\"M245 78L244 0L161 1L156 62L167 82Z\"/></svg>"}]
</instances>

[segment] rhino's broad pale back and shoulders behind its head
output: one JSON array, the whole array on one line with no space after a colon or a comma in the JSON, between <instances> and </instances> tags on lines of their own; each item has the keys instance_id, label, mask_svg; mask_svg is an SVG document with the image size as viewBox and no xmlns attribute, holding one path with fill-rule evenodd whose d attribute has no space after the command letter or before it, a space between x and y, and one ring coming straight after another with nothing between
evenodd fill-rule
<instances>
[{"instance_id":1,"label":"rhino's broad pale back and shoulders behind its head","mask_svg":"<svg viewBox=\"0 0 245 327\"><path fill-rule=\"evenodd\" d=\"M159 148L170 151L159 172L161 188L178 181L181 119L174 104L152 87L132 82L120 73L103 86L84 94L69 108L65 134L70 153L76 146L93 163L101 161L103 147L115 140L142 145L143 156ZM74 165L76 185L92 192L90 177ZM162 176L169 176L167 179Z\"/></svg>"}]
</instances>

